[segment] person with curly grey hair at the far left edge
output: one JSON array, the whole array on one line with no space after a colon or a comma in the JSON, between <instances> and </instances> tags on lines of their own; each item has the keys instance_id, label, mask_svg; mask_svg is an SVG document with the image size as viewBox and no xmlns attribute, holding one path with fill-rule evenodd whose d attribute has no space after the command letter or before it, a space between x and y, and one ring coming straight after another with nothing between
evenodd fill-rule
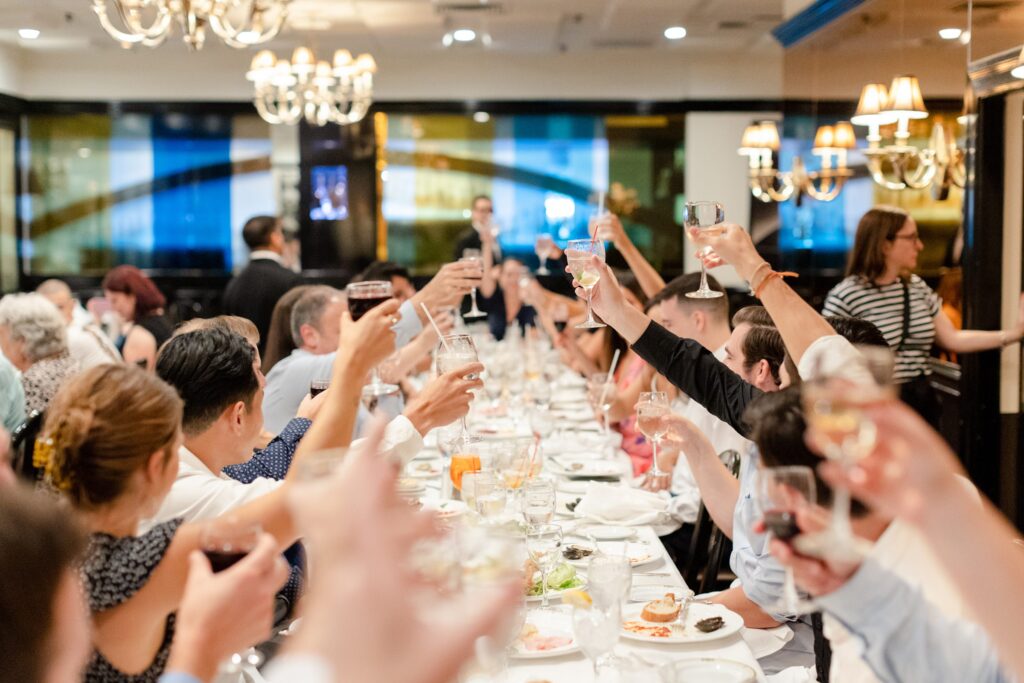
<instances>
[{"instance_id":1,"label":"person with curly grey hair at the far left edge","mask_svg":"<svg viewBox=\"0 0 1024 683\"><path fill-rule=\"evenodd\" d=\"M25 412L45 411L57 390L79 372L68 353L60 311L40 294L0 299L0 350L22 372Z\"/></svg>"}]
</instances>

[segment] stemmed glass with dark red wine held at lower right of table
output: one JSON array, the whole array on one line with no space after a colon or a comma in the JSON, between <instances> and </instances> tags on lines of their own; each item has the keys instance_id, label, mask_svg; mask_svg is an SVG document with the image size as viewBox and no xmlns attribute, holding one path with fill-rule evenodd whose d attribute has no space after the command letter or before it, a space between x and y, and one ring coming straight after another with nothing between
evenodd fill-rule
<instances>
[{"instance_id":1,"label":"stemmed glass with dark red wine held at lower right of table","mask_svg":"<svg viewBox=\"0 0 1024 683\"><path fill-rule=\"evenodd\" d=\"M797 513L817 502L815 490L814 472L810 467L761 468L757 478L757 503L768 532L785 543L799 536ZM793 615L817 611L813 602L801 598L797 592L792 567L785 567L781 602L769 607L768 611Z\"/></svg>"}]
</instances>

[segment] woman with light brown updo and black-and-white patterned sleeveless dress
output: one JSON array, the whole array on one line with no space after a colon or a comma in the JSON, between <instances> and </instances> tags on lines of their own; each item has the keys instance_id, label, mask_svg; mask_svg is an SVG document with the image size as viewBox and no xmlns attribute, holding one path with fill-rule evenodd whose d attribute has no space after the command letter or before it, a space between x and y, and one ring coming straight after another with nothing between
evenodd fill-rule
<instances>
[{"instance_id":1,"label":"woman with light brown updo and black-and-white patterned sleeveless dress","mask_svg":"<svg viewBox=\"0 0 1024 683\"><path fill-rule=\"evenodd\" d=\"M322 409L329 426L313 425L296 462L325 447L347 445L359 381L393 350L390 316L395 307L382 304L348 326ZM92 533L82 568L94 615L87 681L148 683L166 667L174 612L189 555L200 547L202 525L178 519L136 533L177 476L181 414L174 390L155 375L111 365L72 380L47 416L37 453L51 484ZM258 501L232 511L240 523L258 523L273 536L279 552L297 539L288 501L294 480L290 476ZM294 499L291 504L301 506Z\"/></svg>"}]
</instances>

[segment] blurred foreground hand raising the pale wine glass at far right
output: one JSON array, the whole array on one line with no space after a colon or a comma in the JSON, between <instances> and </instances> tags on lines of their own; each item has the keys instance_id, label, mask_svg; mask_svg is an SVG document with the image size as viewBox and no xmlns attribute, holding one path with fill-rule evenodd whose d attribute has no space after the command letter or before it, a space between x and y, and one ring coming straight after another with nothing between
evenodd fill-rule
<instances>
[{"instance_id":1,"label":"blurred foreground hand raising the pale wine glass at far right","mask_svg":"<svg viewBox=\"0 0 1024 683\"><path fill-rule=\"evenodd\" d=\"M945 439L900 401L865 410L878 429L874 451L849 471L837 463L819 466L831 485L846 485L858 499L892 517L920 522L930 506L942 505L947 492L963 485L963 469ZM813 435L808 444L816 447Z\"/></svg>"}]
</instances>

